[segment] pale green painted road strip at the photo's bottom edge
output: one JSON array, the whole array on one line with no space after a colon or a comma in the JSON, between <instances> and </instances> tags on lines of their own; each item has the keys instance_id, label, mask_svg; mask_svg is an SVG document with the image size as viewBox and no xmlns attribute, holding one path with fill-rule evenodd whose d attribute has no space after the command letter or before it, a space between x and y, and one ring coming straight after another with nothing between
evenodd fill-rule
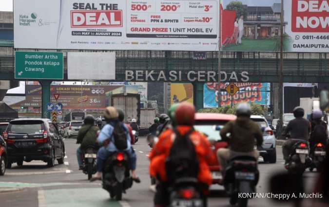
<instances>
[{"instance_id":1,"label":"pale green painted road strip at the photo's bottom edge","mask_svg":"<svg viewBox=\"0 0 329 207\"><path fill-rule=\"evenodd\" d=\"M121 207L102 188L43 190L47 207ZM43 200L43 199L42 199Z\"/></svg>"}]
</instances>

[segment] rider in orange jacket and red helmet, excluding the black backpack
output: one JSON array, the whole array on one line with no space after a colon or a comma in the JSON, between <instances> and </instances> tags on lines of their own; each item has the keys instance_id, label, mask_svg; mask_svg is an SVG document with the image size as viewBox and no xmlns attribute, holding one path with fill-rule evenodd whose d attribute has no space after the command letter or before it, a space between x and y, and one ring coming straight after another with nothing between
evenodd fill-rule
<instances>
[{"instance_id":1,"label":"rider in orange jacket and red helmet, excluding the black backpack","mask_svg":"<svg viewBox=\"0 0 329 207\"><path fill-rule=\"evenodd\" d=\"M176 122L176 128L168 128L162 132L159 136L158 142L155 144L151 151L149 158L150 175L158 178L158 185L156 186L155 193L155 207L164 207L168 205L169 192L168 192L168 178L165 163L167 157L171 152L171 147L174 143L174 139L177 137L177 133L180 136L184 136L189 133L189 138L194 144L196 156L198 158L198 173L197 179L204 189L208 189L212 184L212 176L209 169L209 164L215 162L215 157L211 152L210 143L207 138L199 132L194 131L194 106L188 102L183 102L178 105L174 112L174 119ZM176 131L176 132L175 132Z\"/></svg>"}]
</instances>

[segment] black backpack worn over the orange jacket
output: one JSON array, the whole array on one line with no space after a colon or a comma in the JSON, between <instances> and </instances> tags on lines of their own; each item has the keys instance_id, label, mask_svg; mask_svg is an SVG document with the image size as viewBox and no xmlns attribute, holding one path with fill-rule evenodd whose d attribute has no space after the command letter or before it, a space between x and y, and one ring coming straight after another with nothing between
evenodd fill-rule
<instances>
[{"instance_id":1,"label":"black backpack worn over the orange jacket","mask_svg":"<svg viewBox=\"0 0 329 207\"><path fill-rule=\"evenodd\" d=\"M192 128L185 135L181 135L176 129L174 129L174 132L176 138L165 164L168 181L171 183L178 178L196 178L199 171L194 144L189 137L194 132L194 129Z\"/></svg>"}]
</instances>

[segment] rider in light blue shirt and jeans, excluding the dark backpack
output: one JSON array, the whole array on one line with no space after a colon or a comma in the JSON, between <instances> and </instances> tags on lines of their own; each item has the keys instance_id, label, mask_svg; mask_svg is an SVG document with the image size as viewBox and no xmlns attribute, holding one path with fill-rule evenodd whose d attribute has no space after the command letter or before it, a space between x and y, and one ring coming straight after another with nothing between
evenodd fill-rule
<instances>
[{"instance_id":1,"label":"rider in light blue shirt and jeans, excluding the dark backpack","mask_svg":"<svg viewBox=\"0 0 329 207\"><path fill-rule=\"evenodd\" d=\"M114 152L118 151L115 145L115 140L113 137L113 132L115 130L115 127L117 126L119 120L118 120L118 112L116 108L114 107L107 107L104 112L104 117L106 120L106 125L103 127L103 129L100 131L97 142L102 145L102 147L97 152L97 172L90 180L100 180L102 177L102 172L104 169L104 164L106 159ZM131 176L132 179L139 183L140 180L136 176L135 170L136 170L136 153L131 147L131 137L129 135L128 129L125 125L121 125L123 127L123 130L125 131L125 135L127 138L127 148L123 151L127 153L129 157L129 164L131 168Z\"/></svg>"}]
</instances>

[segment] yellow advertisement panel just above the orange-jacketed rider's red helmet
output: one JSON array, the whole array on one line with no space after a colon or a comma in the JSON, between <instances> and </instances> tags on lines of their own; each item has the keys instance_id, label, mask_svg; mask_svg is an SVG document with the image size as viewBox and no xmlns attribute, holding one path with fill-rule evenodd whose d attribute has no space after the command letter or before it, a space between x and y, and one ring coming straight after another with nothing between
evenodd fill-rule
<instances>
[{"instance_id":1,"label":"yellow advertisement panel just above the orange-jacketed rider's red helmet","mask_svg":"<svg viewBox=\"0 0 329 207\"><path fill-rule=\"evenodd\" d=\"M193 85L191 83L172 83L170 97L171 104L183 101L193 104Z\"/></svg>"}]
</instances>

